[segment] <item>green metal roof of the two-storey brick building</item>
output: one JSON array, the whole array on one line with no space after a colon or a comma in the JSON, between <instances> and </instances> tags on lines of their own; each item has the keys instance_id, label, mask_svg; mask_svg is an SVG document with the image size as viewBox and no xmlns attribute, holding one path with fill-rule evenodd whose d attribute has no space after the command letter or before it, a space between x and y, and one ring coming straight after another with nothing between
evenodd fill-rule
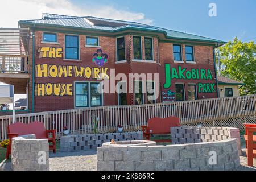
<instances>
[{"instance_id":1,"label":"green metal roof of the two-storey brick building","mask_svg":"<svg viewBox=\"0 0 256 182\"><path fill-rule=\"evenodd\" d=\"M67 15L56 15L43 13L42 19L35 20L20 20L20 24L34 24L41 26L51 26L51 27L65 27L65 28L85 28L88 30L98 30L107 32L118 32L126 29L133 29L139 31L151 31L160 32L166 36L166 39L182 39L191 40L198 42L210 42L218 43L218 45L225 44L226 42L211 38L205 38L204 36L187 34L184 32L168 30L166 28L160 28L155 26L150 26L147 24L127 22L123 20L113 20L105 18L97 18L92 16L67 16Z\"/></svg>"}]
</instances>

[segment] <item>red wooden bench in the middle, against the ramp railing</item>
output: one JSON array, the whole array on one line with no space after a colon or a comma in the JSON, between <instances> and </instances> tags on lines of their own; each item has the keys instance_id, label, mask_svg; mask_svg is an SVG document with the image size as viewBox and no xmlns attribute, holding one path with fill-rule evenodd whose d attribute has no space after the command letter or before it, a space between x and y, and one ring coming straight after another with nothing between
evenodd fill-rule
<instances>
[{"instance_id":1,"label":"red wooden bench in the middle, against the ramp railing","mask_svg":"<svg viewBox=\"0 0 256 182\"><path fill-rule=\"evenodd\" d=\"M143 137L150 140L151 134L170 134L170 128L180 125L180 119L176 117L148 119L147 126L142 125ZM156 140L156 142L171 142L170 140Z\"/></svg>"}]
</instances>

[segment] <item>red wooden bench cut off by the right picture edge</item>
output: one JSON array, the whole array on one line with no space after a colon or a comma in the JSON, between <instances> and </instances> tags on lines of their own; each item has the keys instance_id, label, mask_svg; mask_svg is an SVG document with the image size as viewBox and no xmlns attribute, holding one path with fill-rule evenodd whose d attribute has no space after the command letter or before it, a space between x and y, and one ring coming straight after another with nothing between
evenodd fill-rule
<instances>
[{"instance_id":1,"label":"red wooden bench cut off by the right picture edge","mask_svg":"<svg viewBox=\"0 0 256 182\"><path fill-rule=\"evenodd\" d=\"M253 166L253 159L256 159L256 124L243 124L245 126L245 143L247 165Z\"/></svg>"}]
</instances>

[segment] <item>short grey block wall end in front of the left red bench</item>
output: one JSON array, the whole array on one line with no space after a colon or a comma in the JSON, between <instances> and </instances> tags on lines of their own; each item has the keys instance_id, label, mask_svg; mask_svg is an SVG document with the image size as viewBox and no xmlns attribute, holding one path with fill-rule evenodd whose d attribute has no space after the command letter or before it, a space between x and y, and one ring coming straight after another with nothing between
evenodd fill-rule
<instances>
[{"instance_id":1,"label":"short grey block wall end in front of the left red bench","mask_svg":"<svg viewBox=\"0 0 256 182\"><path fill-rule=\"evenodd\" d=\"M49 171L48 140L35 139L35 134L14 137L11 167L14 171Z\"/></svg>"}]
</instances>

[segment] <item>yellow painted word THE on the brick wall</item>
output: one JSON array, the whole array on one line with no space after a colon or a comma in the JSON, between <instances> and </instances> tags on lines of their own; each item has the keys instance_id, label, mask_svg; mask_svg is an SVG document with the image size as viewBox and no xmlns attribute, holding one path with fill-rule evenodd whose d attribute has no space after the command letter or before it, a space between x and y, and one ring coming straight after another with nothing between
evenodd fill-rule
<instances>
[{"instance_id":1,"label":"yellow painted word THE on the brick wall","mask_svg":"<svg viewBox=\"0 0 256 182\"><path fill-rule=\"evenodd\" d=\"M39 47L39 59L41 58L62 58L63 48L56 47Z\"/></svg>"}]
</instances>

